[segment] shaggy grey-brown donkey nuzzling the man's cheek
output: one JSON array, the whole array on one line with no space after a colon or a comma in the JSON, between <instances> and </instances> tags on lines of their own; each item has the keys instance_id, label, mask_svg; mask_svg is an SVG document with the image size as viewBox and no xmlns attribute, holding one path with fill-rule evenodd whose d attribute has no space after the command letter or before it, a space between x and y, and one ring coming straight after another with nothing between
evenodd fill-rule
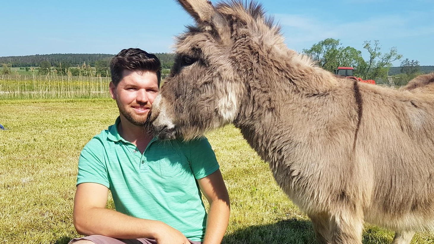
<instances>
[{"instance_id":1,"label":"shaggy grey-brown donkey nuzzling the man's cheek","mask_svg":"<svg viewBox=\"0 0 434 244\"><path fill-rule=\"evenodd\" d=\"M361 244L363 222L434 230L434 96L321 69L287 48L256 3L178 0L197 25L153 103L160 139L233 123L321 244Z\"/></svg>"}]
</instances>

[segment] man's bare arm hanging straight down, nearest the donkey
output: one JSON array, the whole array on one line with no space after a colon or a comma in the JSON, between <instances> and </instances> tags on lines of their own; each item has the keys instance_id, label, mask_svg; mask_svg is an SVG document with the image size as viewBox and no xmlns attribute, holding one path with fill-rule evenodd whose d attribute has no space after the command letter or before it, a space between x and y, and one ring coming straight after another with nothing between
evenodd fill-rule
<instances>
[{"instance_id":1,"label":"man's bare arm hanging straight down, nearest the donkey","mask_svg":"<svg viewBox=\"0 0 434 244\"><path fill-rule=\"evenodd\" d=\"M207 228L203 244L220 244L229 222L229 194L220 169L197 180L201 191L210 203Z\"/></svg>"}]
</instances>

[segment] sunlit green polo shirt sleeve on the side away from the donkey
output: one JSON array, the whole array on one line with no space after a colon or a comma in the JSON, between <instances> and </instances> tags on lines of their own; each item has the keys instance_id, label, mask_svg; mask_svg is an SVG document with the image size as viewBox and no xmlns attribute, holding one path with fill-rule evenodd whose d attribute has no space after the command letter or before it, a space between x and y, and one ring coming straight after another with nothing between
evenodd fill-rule
<instances>
[{"instance_id":1,"label":"sunlit green polo shirt sleeve on the side away from the donkey","mask_svg":"<svg viewBox=\"0 0 434 244\"><path fill-rule=\"evenodd\" d=\"M79 158L77 185L90 182L110 188L103 149L102 142L95 137L84 146Z\"/></svg>"}]
</instances>

